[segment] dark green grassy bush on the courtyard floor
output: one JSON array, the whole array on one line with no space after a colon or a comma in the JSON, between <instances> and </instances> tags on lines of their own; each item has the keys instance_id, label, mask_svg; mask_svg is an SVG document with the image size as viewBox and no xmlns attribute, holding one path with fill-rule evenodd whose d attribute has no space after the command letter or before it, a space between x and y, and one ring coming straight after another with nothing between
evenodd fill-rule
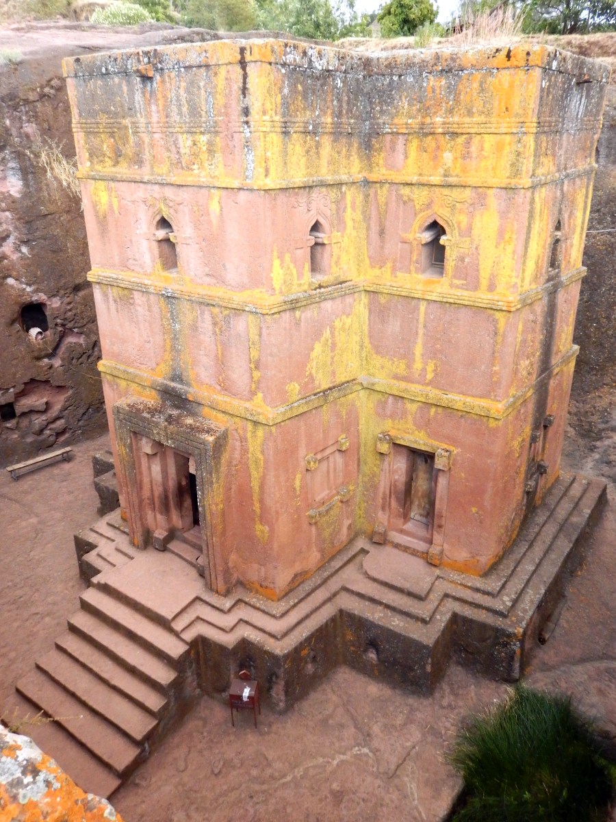
<instances>
[{"instance_id":1,"label":"dark green grassy bush on the courtyard floor","mask_svg":"<svg viewBox=\"0 0 616 822\"><path fill-rule=\"evenodd\" d=\"M591 720L525 686L473 718L449 760L467 794L453 822L600 822L614 798Z\"/></svg>"}]
</instances>

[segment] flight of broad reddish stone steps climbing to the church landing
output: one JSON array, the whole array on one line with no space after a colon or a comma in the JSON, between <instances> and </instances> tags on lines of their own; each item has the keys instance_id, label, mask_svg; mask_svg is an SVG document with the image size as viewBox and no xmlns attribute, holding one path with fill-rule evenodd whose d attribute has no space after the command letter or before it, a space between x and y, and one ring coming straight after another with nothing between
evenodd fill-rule
<instances>
[{"instance_id":1,"label":"flight of broad reddish stone steps climbing to the church landing","mask_svg":"<svg viewBox=\"0 0 616 822\"><path fill-rule=\"evenodd\" d=\"M80 606L3 718L86 792L108 797L189 709L195 676L189 645L138 603L102 582Z\"/></svg>"}]
</instances>

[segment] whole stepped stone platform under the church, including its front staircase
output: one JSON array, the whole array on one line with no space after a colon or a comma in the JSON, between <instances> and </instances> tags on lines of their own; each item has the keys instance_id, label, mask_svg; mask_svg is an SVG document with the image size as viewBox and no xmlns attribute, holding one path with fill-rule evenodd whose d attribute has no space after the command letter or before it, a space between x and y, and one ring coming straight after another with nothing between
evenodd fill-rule
<instances>
[{"instance_id":1,"label":"whole stepped stone platform under the church, including its front staircase","mask_svg":"<svg viewBox=\"0 0 616 822\"><path fill-rule=\"evenodd\" d=\"M605 483L562 476L483 577L357 538L278 602L205 589L190 538L139 551L114 511L76 535L90 588L4 717L53 718L23 730L108 797L200 691L224 693L242 667L278 711L338 664L425 693L450 658L515 681L604 503Z\"/></svg>"}]
</instances>

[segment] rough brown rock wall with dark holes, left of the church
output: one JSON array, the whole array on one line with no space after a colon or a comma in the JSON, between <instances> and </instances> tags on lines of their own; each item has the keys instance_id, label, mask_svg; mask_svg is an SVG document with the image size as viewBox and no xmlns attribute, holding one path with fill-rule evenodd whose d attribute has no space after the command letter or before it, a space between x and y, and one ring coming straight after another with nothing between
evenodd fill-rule
<instances>
[{"instance_id":1,"label":"rough brown rock wall with dark holes, left of the church","mask_svg":"<svg viewBox=\"0 0 616 822\"><path fill-rule=\"evenodd\" d=\"M60 60L0 67L0 464L104 427L80 197L44 165L74 156Z\"/></svg>"}]
</instances>

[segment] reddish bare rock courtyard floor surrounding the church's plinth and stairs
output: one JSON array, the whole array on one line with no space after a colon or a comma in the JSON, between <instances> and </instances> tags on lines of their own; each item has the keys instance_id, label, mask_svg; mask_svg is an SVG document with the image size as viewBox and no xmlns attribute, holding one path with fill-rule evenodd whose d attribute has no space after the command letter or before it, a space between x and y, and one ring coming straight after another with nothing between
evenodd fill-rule
<instances>
[{"instance_id":1,"label":"reddish bare rock courtyard floor surrounding the church's plinth and stairs","mask_svg":"<svg viewBox=\"0 0 616 822\"><path fill-rule=\"evenodd\" d=\"M106 437L82 443L71 463L17 482L1 472L2 703L34 658L52 648L85 589L72 535L96 519L91 455L107 445ZM597 448L605 453L605 443L572 436L563 467L610 478L614 465L598 464ZM537 646L526 672L531 683L572 693L612 732L615 603L612 484L559 624L548 644ZM456 666L430 698L340 667L285 715L264 708L257 730L248 712L232 728L228 706L204 697L112 802L126 822L436 822L459 789L444 761L457 727L467 713L505 693L502 683Z\"/></svg>"}]
</instances>

